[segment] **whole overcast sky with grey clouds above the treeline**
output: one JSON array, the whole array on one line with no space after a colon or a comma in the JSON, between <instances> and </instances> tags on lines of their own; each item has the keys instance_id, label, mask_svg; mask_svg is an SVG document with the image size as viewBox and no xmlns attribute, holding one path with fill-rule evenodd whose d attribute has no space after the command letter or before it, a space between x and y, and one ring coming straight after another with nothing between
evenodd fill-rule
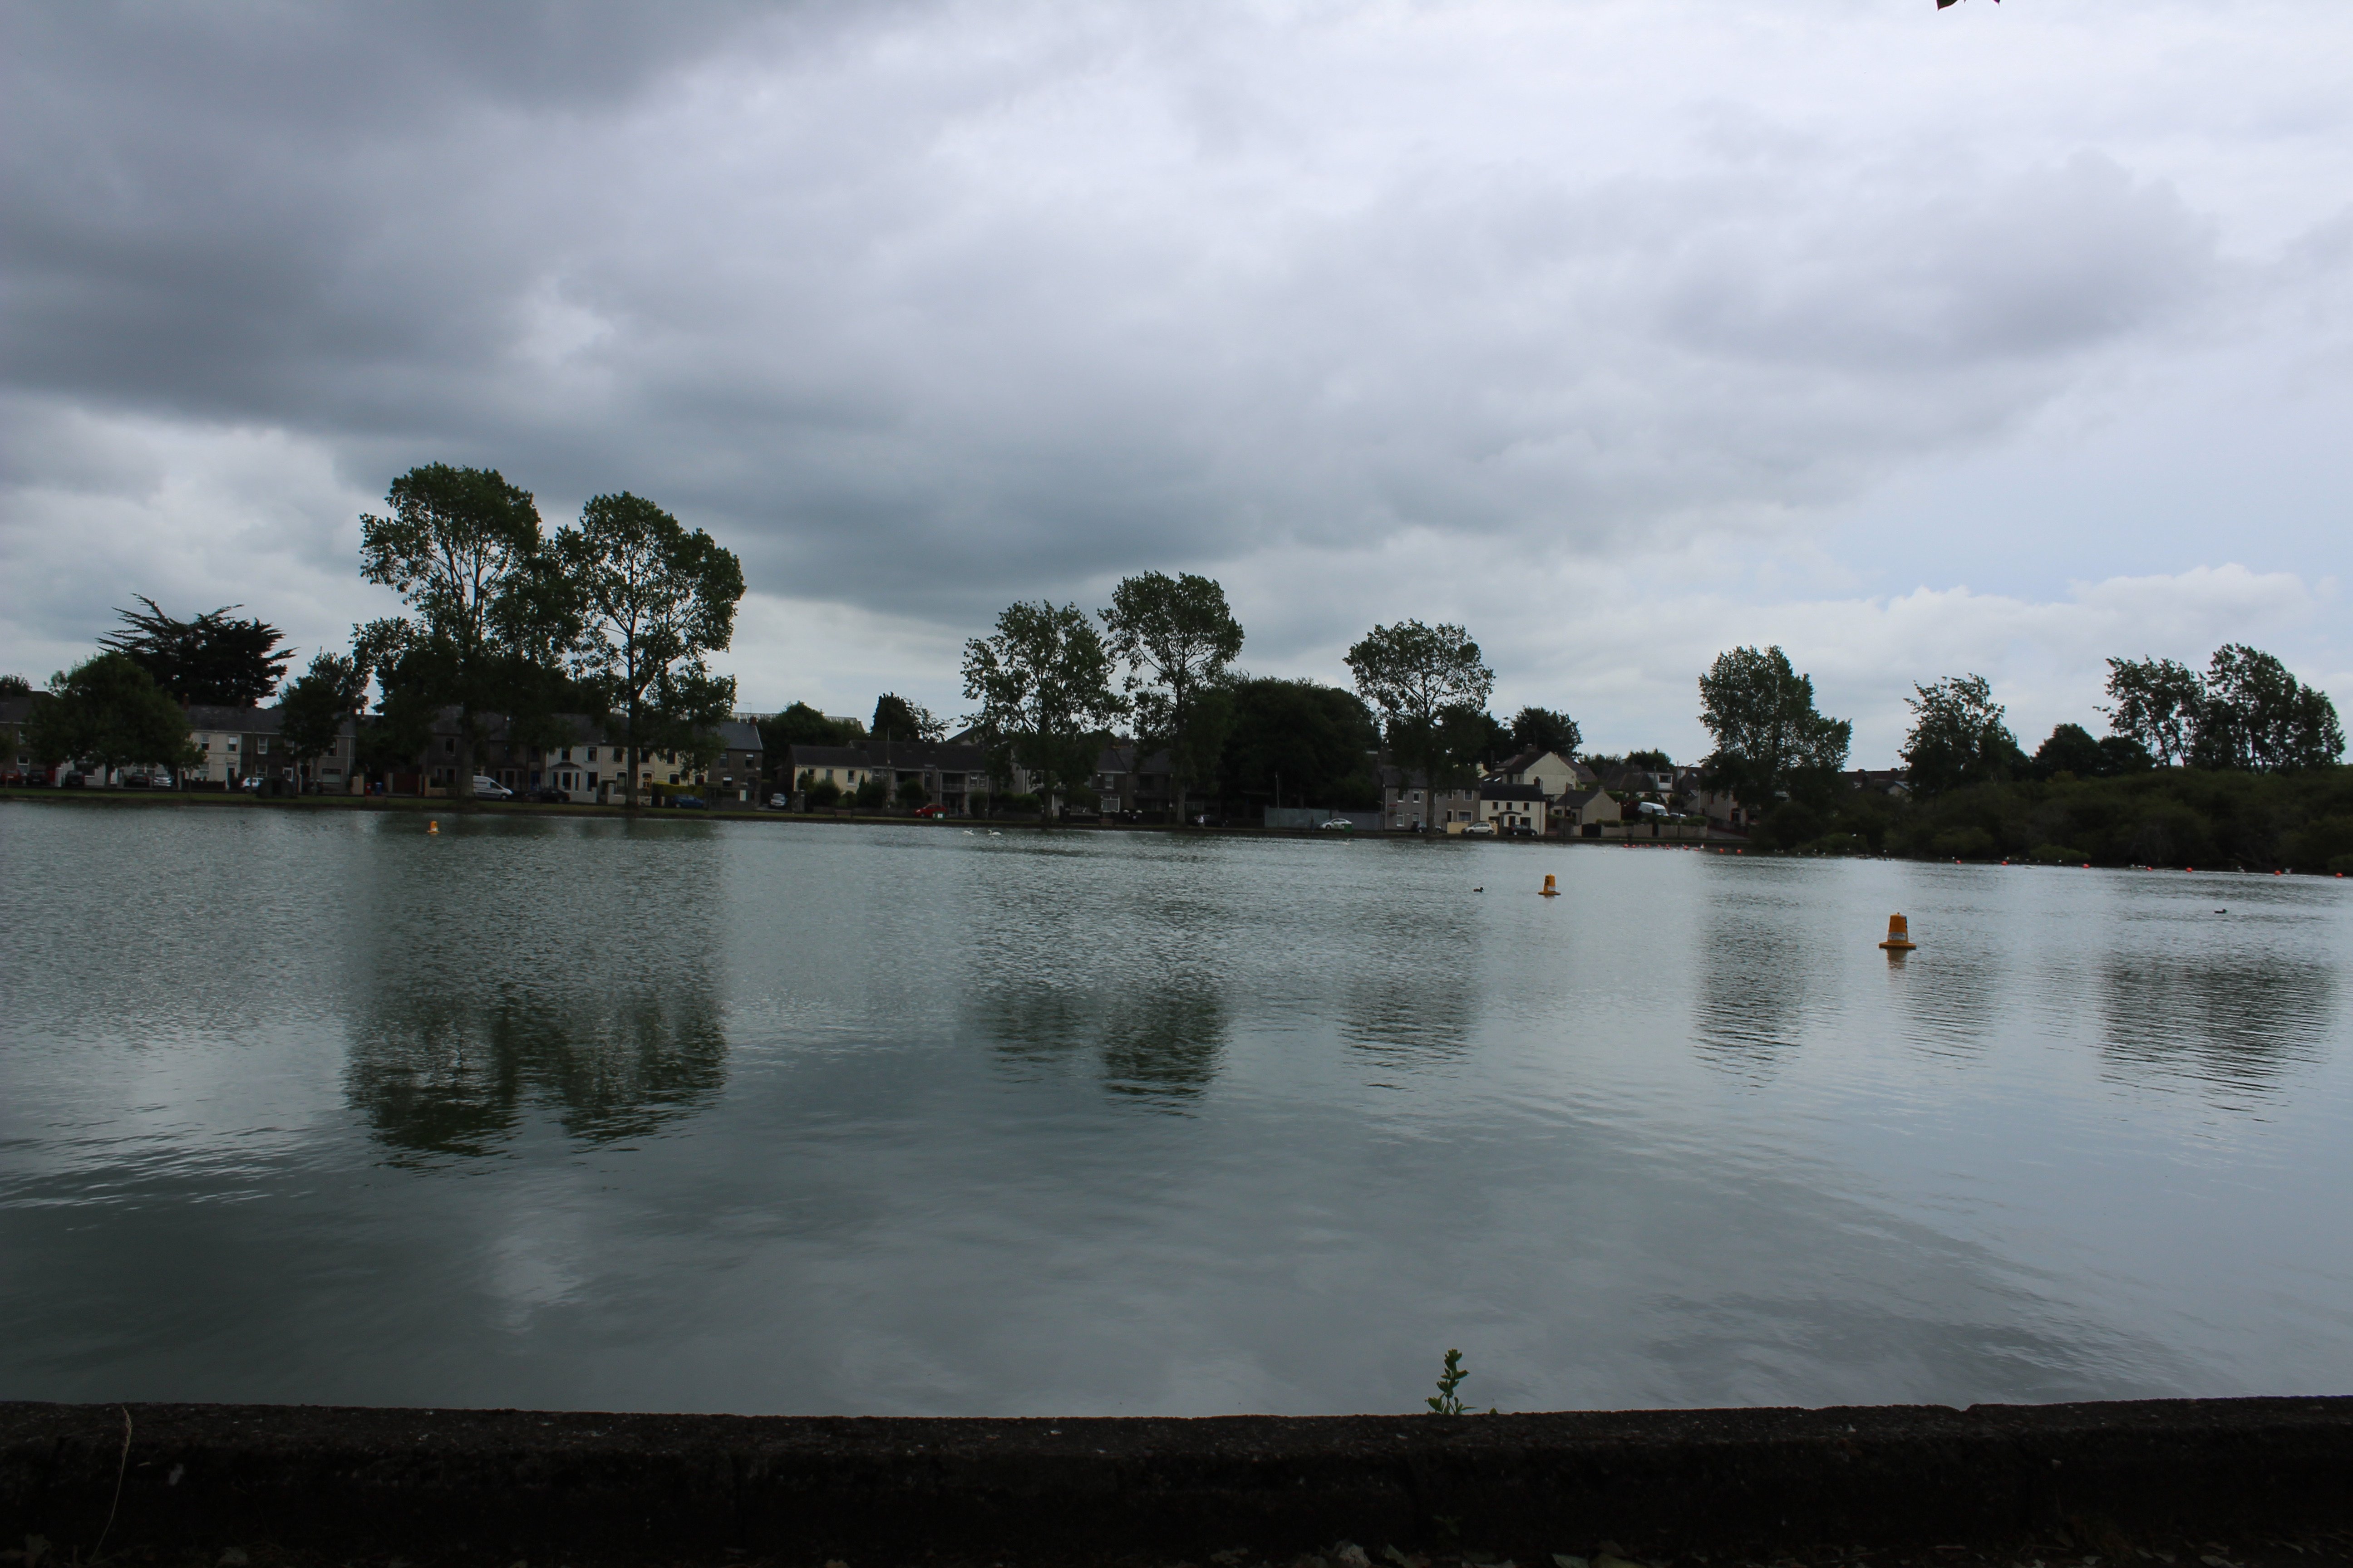
<instances>
[{"instance_id":1,"label":"whole overcast sky with grey clouds above the treeline","mask_svg":"<svg viewBox=\"0 0 2353 1568\"><path fill-rule=\"evenodd\" d=\"M734 548L753 710L960 715L1158 567L1254 672L1464 621L1598 750L1739 642L1873 766L2226 639L2353 712L2344 0L0 14L0 670L341 644L449 461Z\"/></svg>"}]
</instances>

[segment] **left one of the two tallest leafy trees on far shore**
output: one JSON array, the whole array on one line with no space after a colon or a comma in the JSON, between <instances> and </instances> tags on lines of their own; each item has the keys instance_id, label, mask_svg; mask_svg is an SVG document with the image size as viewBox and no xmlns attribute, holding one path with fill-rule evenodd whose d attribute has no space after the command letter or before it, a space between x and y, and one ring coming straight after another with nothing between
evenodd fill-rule
<instances>
[{"instance_id":1,"label":"left one of the two tallest leafy trees on far shore","mask_svg":"<svg viewBox=\"0 0 2353 1568\"><path fill-rule=\"evenodd\" d=\"M386 675L402 682L412 708L456 708L454 790L471 797L482 715L515 708L518 691L529 696L548 644L565 642L551 635L551 621L562 623L562 578L532 494L494 468L412 468L393 480L384 505L381 517L360 517L360 576L409 607Z\"/></svg>"}]
</instances>

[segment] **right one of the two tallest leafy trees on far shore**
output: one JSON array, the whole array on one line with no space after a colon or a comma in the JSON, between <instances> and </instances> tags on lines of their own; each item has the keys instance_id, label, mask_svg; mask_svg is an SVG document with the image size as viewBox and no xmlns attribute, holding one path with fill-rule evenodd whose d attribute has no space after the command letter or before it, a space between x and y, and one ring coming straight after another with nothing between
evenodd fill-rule
<instances>
[{"instance_id":1,"label":"right one of the two tallest leafy trees on far shore","mask_svg":"<svg viewBox=\"0 0 2353 1568\"><path fill-rule=\"evenodd\" d=\"M713 675L708 654L734 639L744 562L701 529L687 529L642 496L591 496L555 555L584 616L581 672L607 698L628 755L626 799L649 752L706 764L734 677Z\"/></svg>"}]
</instances>

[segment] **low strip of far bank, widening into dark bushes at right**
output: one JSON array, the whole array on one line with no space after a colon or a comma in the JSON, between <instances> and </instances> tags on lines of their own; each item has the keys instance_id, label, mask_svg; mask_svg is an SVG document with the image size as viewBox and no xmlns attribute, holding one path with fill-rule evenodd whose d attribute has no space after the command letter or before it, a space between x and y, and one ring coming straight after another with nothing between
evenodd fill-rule
<instances>
[{"instance_id":1,"label":"low strip of far bank, widening into dark bushes at right","mask_svg":"<svg viewBox=\"0 0 2353 1568\"><path fill-rule=\"evenodd\" d=\"M2155 769L2122 778L2005 780L1927 802L1857 790L1831 811L1784 804L1746 842L1708 839L1473 839L1457 835L1259 823L1089 823L1002 818L918 818L911 813L600 806L586 802L482 802L419 795L242 795L216 790L0 788L0 804L212 806L249 811L381 811L424 816L809 823L864 827L962 827L967 832L1160 832L1195 837L1388 839L1424 844L1518 844L1555 849L1687 849L1762 858L1889 858L2101 870L2238 870L2344 877L2353 872L2353 776L2209 773Z\"/></svg>"}]
</instances>

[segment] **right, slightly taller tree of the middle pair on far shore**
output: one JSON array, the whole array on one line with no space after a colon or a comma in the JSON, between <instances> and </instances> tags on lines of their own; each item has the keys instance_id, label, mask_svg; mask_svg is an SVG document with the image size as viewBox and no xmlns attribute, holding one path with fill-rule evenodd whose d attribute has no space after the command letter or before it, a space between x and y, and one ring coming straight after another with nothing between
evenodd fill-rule
<instances>
[{"instance_id":1,"label":"right, slightly taller tree of the middle pair on far shore","mask_svg":"<svg viewBox=\"0 0 2353 1568\"><path fill-rule=\"evenodd\" d=\"M1101 616L1111 654L1127 665L1136 764L1167 748L1176 820L1184 820L1186 790L1209 776L1224 745L1217 729L1233 708L1205 698L1242 651L1242 623L1226 609L1226 590L1191 571L1122 578Z\"/></svg>"}]
</instances>

